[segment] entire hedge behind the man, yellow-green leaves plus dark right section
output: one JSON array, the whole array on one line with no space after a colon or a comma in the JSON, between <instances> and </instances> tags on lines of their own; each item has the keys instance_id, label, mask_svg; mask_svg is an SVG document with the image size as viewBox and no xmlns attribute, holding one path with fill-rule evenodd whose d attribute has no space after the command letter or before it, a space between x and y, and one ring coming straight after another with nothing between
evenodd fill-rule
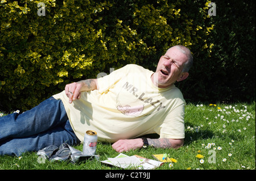
<instances>
[{"instance_id":1,"label":"entire hedge behind the man, yellow-green leaves plus dark right section","mask_svg":"<svg viewBox=\"0 0 256 181\"><path fill-rule=\"evenodd\" d=\"M177 83L186 100L255 100L255 2L215 1L216 16L208 15L209 3L2 0L0 110L27 110L110 68L155 70L176 44L195 60Z\"/></svg>"}]
</instances>

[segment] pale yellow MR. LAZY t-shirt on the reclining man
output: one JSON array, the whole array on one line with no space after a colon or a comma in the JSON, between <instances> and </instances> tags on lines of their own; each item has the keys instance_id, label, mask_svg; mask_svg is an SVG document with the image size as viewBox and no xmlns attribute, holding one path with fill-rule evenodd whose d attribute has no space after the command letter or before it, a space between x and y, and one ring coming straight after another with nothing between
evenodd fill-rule
<instances>
[{"instance_id":1,"label":"pale yellow MR. LAZY t-shirt on the reclining man","mask_svg":"<svg viewBox=\"0 0 256 181\"><path fill-rule=\"evenodd\" d=\"M130 64L98 78L99 90L81 92L81 98L71 104L65 91L53 97L62 100L81 142L88 130L96 131L99 141L108 142L151 133L184 138L183 95L174 85L154 86L153 73Z\"/></svg>"}]
</instances>

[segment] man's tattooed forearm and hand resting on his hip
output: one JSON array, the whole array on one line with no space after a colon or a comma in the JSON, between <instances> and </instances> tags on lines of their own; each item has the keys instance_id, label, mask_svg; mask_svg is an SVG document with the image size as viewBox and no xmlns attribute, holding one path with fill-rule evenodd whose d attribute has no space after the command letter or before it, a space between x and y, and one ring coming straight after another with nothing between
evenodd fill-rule
<instances>
[{"instance_id":1,"label":"man's tattooed forearm and hand resting on his hip","mask_svg":"<svg viewBox=\"0 0 256 181\"><path fill-rule=\"evenodd\" d=\"M69 98L69 103L81 98L82 91L98 90L97 79L86 79L84 81L69 83L65 86L65 93Z\"/></svg>"}]
</instances>

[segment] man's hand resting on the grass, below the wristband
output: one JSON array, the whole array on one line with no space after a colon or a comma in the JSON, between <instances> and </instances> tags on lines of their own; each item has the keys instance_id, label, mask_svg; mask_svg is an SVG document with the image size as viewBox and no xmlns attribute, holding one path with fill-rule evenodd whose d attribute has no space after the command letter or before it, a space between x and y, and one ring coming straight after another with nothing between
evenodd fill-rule
<instances>
[{"instance_id":1,"label":"man's hand resting on the grass, below the wristband","mask_svg":"<svg viewBox=\"0 0 256 181\"><path fill-rule=\"evenodd\" d=\"M133 140L118 140L112 145L112 148L121 153L122 151L135 150L137 148L142 148L143 141L141 138Z\"/></svg>"}]
</instances>

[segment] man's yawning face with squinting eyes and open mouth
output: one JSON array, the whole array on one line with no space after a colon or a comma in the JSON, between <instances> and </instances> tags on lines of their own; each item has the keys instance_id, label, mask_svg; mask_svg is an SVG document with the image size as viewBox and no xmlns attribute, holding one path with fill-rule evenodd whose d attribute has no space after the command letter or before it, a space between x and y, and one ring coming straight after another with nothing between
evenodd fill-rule
<instances>
[{"instance_id":1,"label":"man's yawning face with squinting eyes and open mouth","mask_svg":"<svg viewBox=\"0 0 256 181\"><path fill-rule=\"evenodd\" d=\"M158 62L155 73L152 75L152 82L159 88L167 88L176 81L182 81L188 77L188 73L183 73L183 66L187 61L187 56L176 47L170 48Z\"/></svg>"}]
</instances>

